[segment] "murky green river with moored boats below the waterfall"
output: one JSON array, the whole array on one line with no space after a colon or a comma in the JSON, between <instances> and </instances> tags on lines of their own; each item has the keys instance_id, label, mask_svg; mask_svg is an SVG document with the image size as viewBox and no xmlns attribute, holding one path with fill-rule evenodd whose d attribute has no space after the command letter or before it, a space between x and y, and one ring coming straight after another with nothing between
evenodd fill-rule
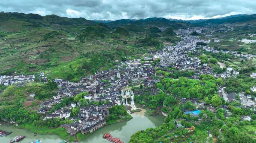
<instances>
[{"instance_id":1,"label":"murky green river with moored boats below the waterfall","mask_svg":"<svg viewBox=\"0 0 256 143\"><path fill-rule=\"evenodd\" d=\"M99 130L95 131L91 136L82 140L80 143L108 143L109 141L102 138L104 133L110 133L113 137L118 137L125 143L129 142L132 134L138 130L144 130L150 127L156 127L164 123L163 116L149 116L145 114L145 109L140 112L135 112L132 115L132 119L129 121L107 125ZM0 137L0 143L9 143L10 140L17 135L26 136L25 139L19 143L29 143L32 140L41 140L42 143L60 143L61 139L56 135L37 135L27 133L25 130L13 128L10 126L1 125L0 130L12 131L7 137ZM110 143L110 142L109 142Z\"/></svg>"}]
</instances>

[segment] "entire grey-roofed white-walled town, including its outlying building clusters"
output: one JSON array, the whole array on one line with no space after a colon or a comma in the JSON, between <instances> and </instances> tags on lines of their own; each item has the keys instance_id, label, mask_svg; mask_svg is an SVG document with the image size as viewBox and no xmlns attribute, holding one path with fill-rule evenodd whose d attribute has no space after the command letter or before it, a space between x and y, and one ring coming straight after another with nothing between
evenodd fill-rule
<instances>
[{"instance_id":1,"label":"entire grey-roofed white-walled town, including its outlying building clusters","mask_svg":"<svg viewBox=\"0 0 256 143\"><path fill-rule=\"evenodd\" d=\"M178 33L177 33L178 34ZM212 74L215 77L230 77L239 74L238 71L232 69L232 67L226 68L223 73L213 73L213 69L205 64L201 64L201 60L198 57L191 58L188 53L197 54L196 48L202 48L204 50L214 52L214 53L232 53L238 57L253 57L255 55L243 55L237 54L231 51L217 51L213 50L207 46L197 45L198 42L205 42L204 40L198 39L197 36L190 36L185 34L182 36L182 41L177 42L174 46L165 46L161 52L149 53L147 57L142 57L138 59L131 59L123 61L116 60L119 63L115 69L110 69L107 71L99 71L96 74L92 74L87 77L82 77L82 79L77 83L68 82L64 79L55 79L59 86L58 94L54 95L51 100L45 101L40 104L40 109L38 113L46 114L44 120L50 118L68 118L72 120L72 124L63 124L61 127L65 128L69 134L76 134L81 132L82 134L89 134L98 128L106 125L106 117L109 114L109 108L113 105L125 105L134 107L133 97L129 93L128 98L132 98L131 102L128 102L127 92L130 90L125 90L127 86L131 85L144 85L143 87L155 88L155 84L159 80L154 79L159 70L168 71L168 66L173 65L177 70L191 70L195 74L192 79L199 79L200 74ZM160 73L161 74L161 73ZM40 78L47 83L47 77L44 73L41 73ZM253 76L253 75L252 75ZM14 83L22 82L32 82L34 81L34 75L24 76L1 76L1 83L4 85L13 85ZM225 99L226 102L238 102L235 98L236 94L239 94L241 100L241 105L246 108L255 107L256 99L252 99L250 95L244 95L244 93L226 93L225 87L219 86L219 96ZM157 89L156 89L157 90ZM255 87L252 87L252 91L256 91ZM82 98L86 99L86 105L90 101L105 102L106 104L95 106L89 105L88 107L83 107L79 102L71 103L57 111L49 113L50 109L58 103L61 103L63 98L74 97L78 94L82 94ZM133 93L132 93L133 94ZM33 93L31 96L33 97ZM120 97L123 97L120 99ZM125 98L126 97L126 98ZM204 103L199 102L197 99L186 99L181 98L180 102L186 103L187 101L192 101L192 103L199 106L205 106ZM131 104L128 104L131 103ZM70 117L71 109L79 106L80 111L76 117ZM213 112L216 112L216 108L212 106L207 106L207 108ZM227 113L230 113L227 108L225 108ZM225 115L228 117L227 115Z\"/></svg>"}]
</instances>

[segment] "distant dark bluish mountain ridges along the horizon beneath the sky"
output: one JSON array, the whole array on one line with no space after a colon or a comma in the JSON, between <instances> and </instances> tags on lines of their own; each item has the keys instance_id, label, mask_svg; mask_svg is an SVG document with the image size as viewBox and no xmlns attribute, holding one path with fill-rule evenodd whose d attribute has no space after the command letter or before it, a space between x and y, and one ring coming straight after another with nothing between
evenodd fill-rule
<instances>
[{"instance_id":1,"label":"distant dark bluish mountain ridges along the horizon beneath the sky","mask_svg":"<svg viewBox=\"0 0 256 143\"><path fill-rule=\"evenodd\" d=\"M137 26L158 26L158 27L179 27L186 26L202 26L206 24L223 24L236 22L249 22L256 20L254 15L231 15L216 19L198 19L198 20L181 20L181 19L166 19L166 18L146 18L146 19L119 19L119 20L87 20L85 18L66 18L57 15L40 16L38 14L25 13L0 13L0 21L16 19L28 22L30 26L48 26L48 25L95 25L104 23L110 28L117 28L129 24Z\"/></svg>"}]
</instances>

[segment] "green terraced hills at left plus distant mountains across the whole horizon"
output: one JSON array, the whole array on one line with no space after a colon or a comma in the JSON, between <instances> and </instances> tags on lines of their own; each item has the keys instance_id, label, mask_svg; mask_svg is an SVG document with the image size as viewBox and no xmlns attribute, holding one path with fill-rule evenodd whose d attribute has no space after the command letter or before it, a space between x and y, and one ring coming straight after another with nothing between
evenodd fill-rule
<instances>
[{"instance_id":1,"label":"green terraced hills at left plus distant mountains across the whole horizon","mask_svg":"<svg viewBox=\"0 0 256 143\"><path fill-rule=\"evenodd\" d=\"M111 21L0 12L0 73L30 74L47 69L51 70L52 78L67 78L68 73L76 73L88 64L86 62L95 53L104 55L107 60L109 57L121 60L156 47L161 38L175 42L173 29L223 23L253 25L255 21L256 15L194 21L166 18ZM145 35L149 36L143 39ZM67 79L76 77L68 75Z\"/></svg>"}]
</instances>

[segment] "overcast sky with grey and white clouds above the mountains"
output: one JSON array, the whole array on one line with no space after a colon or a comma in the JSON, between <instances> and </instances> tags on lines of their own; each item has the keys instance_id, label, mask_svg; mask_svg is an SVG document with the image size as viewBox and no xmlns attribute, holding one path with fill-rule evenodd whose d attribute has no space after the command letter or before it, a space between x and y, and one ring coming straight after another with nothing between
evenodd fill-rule
<instances>
[{"instance_id":1,"label":"overcast sky with grey and white clouds above the mountains","mask_svg":"<svg viewBox=\"0 0 256 143\"><path fill-rule=\"evenodd\" d=\"M255 14L256 0L0 0L0 11L85 19L208 19Z\"/></svg>"}]
</instances>

